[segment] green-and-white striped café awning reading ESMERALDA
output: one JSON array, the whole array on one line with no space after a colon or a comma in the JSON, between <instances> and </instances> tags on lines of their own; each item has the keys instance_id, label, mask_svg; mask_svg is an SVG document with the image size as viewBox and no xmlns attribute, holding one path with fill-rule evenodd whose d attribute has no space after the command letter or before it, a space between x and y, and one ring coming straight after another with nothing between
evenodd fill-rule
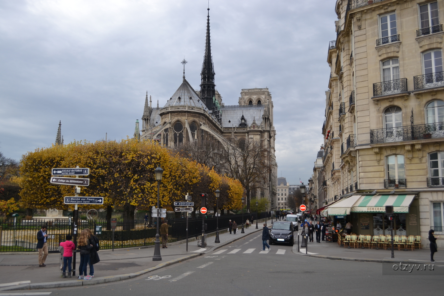
<instances>
[{"instance_id":1,"label":"green-and-white striped caf\u00e9 awning reading ESMERALDA","mask_svg":"<svg viewBox=\"0 0 444 296\"><path fill-rule=\"evenodd\" d=\"M395 213L408 213L415 194L361 195L351 208L351 212L385 212L386 205L392 205Z\"/></svg>"}]
</instances>

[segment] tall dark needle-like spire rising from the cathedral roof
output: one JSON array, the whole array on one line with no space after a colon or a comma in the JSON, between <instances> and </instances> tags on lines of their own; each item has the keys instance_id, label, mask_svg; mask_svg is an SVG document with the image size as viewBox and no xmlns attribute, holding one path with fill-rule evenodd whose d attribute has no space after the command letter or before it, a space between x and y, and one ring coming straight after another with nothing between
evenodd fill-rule
<instances>
[{"instance_id":1,"label":"tall dark needle-like spire rising from the cathedral roof","mask_svg":"<svg viewBox=\"0 0 444 296\"><path fill-rule=\"evenodd\" d=\"M213 97L216 94L216 91L214 85L214 69L212 59L210 41L210 8L208 8L208 15L206 17L205 55L203 57L202 72L200 74L200 96L208 110L213 110L215 107Z\"/></svg>"}]
</instances>

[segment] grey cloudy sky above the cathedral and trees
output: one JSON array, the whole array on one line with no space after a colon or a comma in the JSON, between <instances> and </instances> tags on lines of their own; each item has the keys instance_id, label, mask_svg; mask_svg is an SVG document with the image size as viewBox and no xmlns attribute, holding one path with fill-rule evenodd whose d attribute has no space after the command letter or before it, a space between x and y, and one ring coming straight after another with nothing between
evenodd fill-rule
<instances>
[{"instance_id":1,"label":"grey cloudy sky above the cathedral and trees","mask_svg":"<svg viewBox=\"0 0 444 296\"><path fill-rule=\"evenodd\" d=\"M313 173L322 143L334 0L211 0L216 88L237 105L268 87L279 177ZM206 0L0 1L0 151L22 154L134 133L145 92L163 106L186 79L199 88Z\"/></svg>"}]
</instances>

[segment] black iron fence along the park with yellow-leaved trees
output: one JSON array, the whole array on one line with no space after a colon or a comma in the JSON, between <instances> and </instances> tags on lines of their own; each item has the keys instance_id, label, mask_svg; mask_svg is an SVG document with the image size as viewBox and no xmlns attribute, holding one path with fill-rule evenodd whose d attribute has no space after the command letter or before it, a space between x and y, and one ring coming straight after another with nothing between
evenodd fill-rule
<instances>
[{"instance_id":1,"label":"black iron fence along the park with yellow-leaved trees","mask_svg":"<svg viewBox=\"0 0 444 296\"><path fill-rule=\"evenodd\" d=\"M270 217L270 213L259 213L259 219ZM242 219L254 217L256 213L244 213L238 215L222 215L218 218L219 229L228 228L228 221L236 221L242 225ZM216 230L217 218L210 217L205 220L207 225L206 233ZM37 232L42 225L47 225L48 230L48 251L57 253L59 244L65 241L67 234L72 234L73 222L67 220L14 220L0 221L0 252L33 252L37 246ZM178 241L186 238L186 218L168 220L168 241ZM112 231L107 228L109 223L106 220L83 220L79 221L78 228L91 230L95 229L97 237L100 240L101 249L112 248ZM107 230L109 229L109 230ZM118 221L114 233L114 248L131 248L147 245L154 245L156 235L156 220L151 218L149 221ZM197 236L202 233L202 217L188 219L188 237Z\"/></svg>"}]
</instances>

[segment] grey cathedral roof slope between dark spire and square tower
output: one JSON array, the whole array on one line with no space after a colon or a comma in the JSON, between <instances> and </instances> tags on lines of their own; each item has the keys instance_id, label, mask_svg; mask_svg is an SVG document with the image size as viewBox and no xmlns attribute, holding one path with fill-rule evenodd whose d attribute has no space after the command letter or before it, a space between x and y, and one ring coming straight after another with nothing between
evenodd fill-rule
<instances>
[{"instance_id":1,"label":"grey cathedral roof slope between dark spire and square tower","mask_svg":"<svg viewBox=\"0 0 444 296\"><path fill-rule=\"evenodd\" d=\"M248 126L251 125L253 120L256 120L256 123L260 126L264 110L265 105L221 106L222 126L239 126L242 115L244 115Z\"/></svg>"}]
</instances>

